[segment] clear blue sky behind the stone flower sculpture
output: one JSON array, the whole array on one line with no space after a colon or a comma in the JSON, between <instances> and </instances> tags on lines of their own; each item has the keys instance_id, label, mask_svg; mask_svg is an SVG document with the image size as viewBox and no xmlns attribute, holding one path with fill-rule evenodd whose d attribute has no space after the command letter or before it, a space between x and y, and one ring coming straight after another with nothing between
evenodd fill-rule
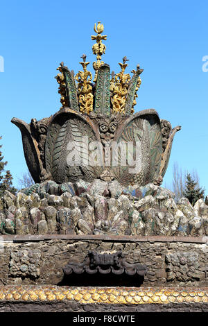
<instances>
[{"instance_id":1,"label":"clear blue sky behind the stone flower sculpture","mask_svg":"<svg viewBox=\"0 0 208 326\"><path fill-rule=\"evenodd\" d=\"M27 171L19 129L12 117L26 122L49 117L60 108L54 78L61 61L80 69L80 55L93 62L91 35L95 22L107 34L103 60L119 72L124 55L127 71L144 69L136 111L154 108L160 119L182 126L173 141L166 185L173 164L196 169L208 194L208 3L204 1L1 1L0 135L4 159L14 185ZM208 67L208 65L207 65ZM93 72L92 65L89 70Z\"/></svg>"}]
</instances>

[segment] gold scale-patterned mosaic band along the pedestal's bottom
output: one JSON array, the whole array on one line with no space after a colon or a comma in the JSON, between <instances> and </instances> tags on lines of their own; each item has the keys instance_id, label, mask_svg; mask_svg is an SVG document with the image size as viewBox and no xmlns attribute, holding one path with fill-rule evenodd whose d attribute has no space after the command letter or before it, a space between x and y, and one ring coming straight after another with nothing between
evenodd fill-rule
<instances>
[{"instance_id":1,"label":"gold scale-patterned mosaic band along the pedestal's bottom","mask_svg":"<svg viewBox=\"0 0 208 326\"><path fill-rule=\"evenodd\" d=\"M0 286L0 302L73 301L84 304L180 304L207 303L208 288L153 289L153 288L99 288L69 286Z\"/></svg>"}]
</instances>

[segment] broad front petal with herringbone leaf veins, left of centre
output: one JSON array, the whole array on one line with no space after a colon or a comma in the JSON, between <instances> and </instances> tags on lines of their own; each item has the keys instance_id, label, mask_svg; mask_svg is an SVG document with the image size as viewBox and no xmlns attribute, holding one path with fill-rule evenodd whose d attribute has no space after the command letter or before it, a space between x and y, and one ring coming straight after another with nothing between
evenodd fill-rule
<instances>
[{"instance_id":1,"label":"broad front petal with herringbone leaf veins, left of centre","mask_svg":"<svg viewBox=\"0 0 208 326\"><path fill-rule=\"evenodd\" d=\"M100 141L100 136L89 117L69 108L58 112L46 136L46 171L58 183L75 182L78 178L87 181L98 178L102 152L98 146L96 154L100 164L94 166L94 141Z\"/></svg>"}]
</instances>

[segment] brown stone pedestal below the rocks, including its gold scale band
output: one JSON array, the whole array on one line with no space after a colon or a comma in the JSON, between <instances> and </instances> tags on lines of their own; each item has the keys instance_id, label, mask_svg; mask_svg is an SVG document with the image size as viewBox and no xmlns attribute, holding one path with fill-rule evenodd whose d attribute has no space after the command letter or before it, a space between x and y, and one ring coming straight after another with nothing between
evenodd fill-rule
<instances>
[{"instance_id":1,"label":"brown stone pedestal below the rocks, including its gold scale band","mask_svg":"<svg viewBox=\"0 0 208 326\"><path fill-rule=\"evenodd\" d=\"M0 311L208 311L206 237L1 236ZM139 275L64 275L89 250L122 250Z\"/></svg>"}]
</instances>

